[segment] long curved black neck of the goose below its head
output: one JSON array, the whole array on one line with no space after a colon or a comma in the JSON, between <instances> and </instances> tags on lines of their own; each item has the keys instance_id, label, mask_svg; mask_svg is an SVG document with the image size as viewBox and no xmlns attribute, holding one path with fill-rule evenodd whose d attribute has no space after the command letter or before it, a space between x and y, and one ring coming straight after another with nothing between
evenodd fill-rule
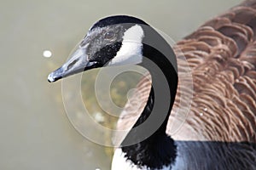
<instances>
[{"instance_id":1,"label":"long curved black neck of the goose below its head","mask_svg":"<svg viewBox=\"0 0 256 170\"><path fill-rule=\"evenodd\" d=\"M172 48L162 37L157 33L150 36L154 38L154 42L160 43L143 43L143 56L145 59L140 65L150 72L152 88L143 113L134 127L132 127L131 132L125 137L121 147L127 159L137 166L162 168L163 166L171 165L177 156L177 147L173 139L166 134L167 122L177 91L177 61ZM150 61L148 62L148 59L154 65ZM165 85L166 88L164 87ZM149 121L146 128L136 128L147 123L148 118L150 119L151 116L153 116L156 124L160 122L159 126L155 127L154 122ZM144 133L152 130L151 127L154 128L154 132L148 135L148 138L145 138Z\"/></svg>"}]
</instances>

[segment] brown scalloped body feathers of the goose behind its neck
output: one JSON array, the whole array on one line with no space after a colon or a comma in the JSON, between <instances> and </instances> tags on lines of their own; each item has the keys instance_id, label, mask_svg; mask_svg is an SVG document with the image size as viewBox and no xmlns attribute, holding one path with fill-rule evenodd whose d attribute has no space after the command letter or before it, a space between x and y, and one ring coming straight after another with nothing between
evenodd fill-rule
<instances>
[{"instance_id":1,"label":"brown scalloped body feathers of the goose behind its neck","mask_svg":"<svg viewBox=\"0 0 256 170\"><path fill-rule=\"evenodd\" d=\"M245 1L207 21L177 42L174 51L182 78L167 133L180 140L255 143L256 1ZM193 91L187 88L191 77L185 76L183 55L190 67ZM138 92L143 93L134 95L125 105L118 129L131 128L137 120L146 105L150 84L148 78L138 84ZM188 105L183 105L187 101L181 99L189 99L190 94L193 99L188 111ZM142 103L138 110L131 110L132 100Z\"/></svg>"}]
</instances>

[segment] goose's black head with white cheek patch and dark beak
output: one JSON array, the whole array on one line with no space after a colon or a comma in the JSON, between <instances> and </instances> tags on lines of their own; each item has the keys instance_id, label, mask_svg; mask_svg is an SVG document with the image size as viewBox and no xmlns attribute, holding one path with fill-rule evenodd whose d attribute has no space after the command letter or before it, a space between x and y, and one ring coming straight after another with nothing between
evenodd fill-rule
<instances>
[{"instance_id":1,"label":"goose's black head with white cheek patch and dark beak","mask_svg":"<svg viewBox=\"0 0 256 170\"><path fill-rule=\"evenodd\" d=\"M93 68L138 64L143 58L143 20L117 15L97 21L71 58L49 74L49 82Z\"/></svg>"}]
</instances>

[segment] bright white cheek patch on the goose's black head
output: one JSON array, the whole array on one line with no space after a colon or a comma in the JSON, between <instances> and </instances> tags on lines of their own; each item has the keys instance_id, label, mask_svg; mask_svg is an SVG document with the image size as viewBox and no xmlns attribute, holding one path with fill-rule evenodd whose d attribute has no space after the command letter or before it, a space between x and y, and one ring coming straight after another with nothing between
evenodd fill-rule
<instances>
[{"instance_id":1,"label":"bright white cheek patch on the goose's black head","mask_svg":"<svg viewBox=\"0 0 256 170\"><path fill-rule=\"evenodd\" d=\"M108 65L135 65L141 63L143 61L143 37L144 31L142 26L131 26L124 33L119 52L108 62Z\"/></svg>"}]
</instances>

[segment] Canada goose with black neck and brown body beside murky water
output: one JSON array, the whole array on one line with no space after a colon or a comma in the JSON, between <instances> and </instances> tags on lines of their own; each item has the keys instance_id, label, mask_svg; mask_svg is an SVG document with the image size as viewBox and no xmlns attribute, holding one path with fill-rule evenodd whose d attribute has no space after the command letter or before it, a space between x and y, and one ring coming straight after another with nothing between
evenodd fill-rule
<instances>
[{"instance_id":1,"label":"Canada goose with black neck and brown body beside murky water","mask_svg":"<svg viewBox=\"0 0 256 170\"><path fill-rule=\"evenodd\" d=\"M139 126L155 105L160 109L156 111L158 116L164 116L163 122L146 139L141 136L147 132L132 128L115 150L113 170L253 170L256 169L255 35L256 1L247 0L177 42L173 48L176 60L169 44L143 20L110 16L90 28L73 57L50 73L48 80L55 82L106 65L132 64L148 69L151 81L145 77L137 87L144 96L133 97L142 99L143 109L131 112L127 109L131 105L126 105L118 127L129 123L132 127ZM189 116L172 135L169 128L175 121L172 113L179 105L181 89L186 91L189 85L177 79L177 70L178 76L183 72L180 59L183 54L191 69L193 99ZM164 79L145 63L147 59L153 60L166 78L168 88L163 88L167 92L160 94L160 102L151 83L157 89ZM180 111L183 109L186 108ZM134 117L136 121L131 124L129 121ZM154 118L157 122L158 118ZM129 145L129 141L135 143Z\"/></svg>"}]
</instances>

